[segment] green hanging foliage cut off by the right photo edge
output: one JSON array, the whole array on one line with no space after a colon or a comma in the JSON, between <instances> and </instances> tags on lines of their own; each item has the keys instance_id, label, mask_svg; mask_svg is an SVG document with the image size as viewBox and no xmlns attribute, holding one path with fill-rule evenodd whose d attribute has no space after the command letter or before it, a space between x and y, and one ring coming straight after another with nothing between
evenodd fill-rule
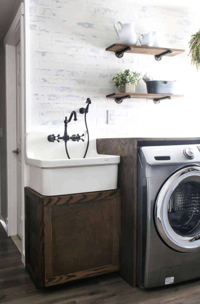
<instances>
[{"instance_id":1,"label":"green hanging foliage cut off by the right photo edge","mask_svg":"<svg viewBox=\"0 0 200 304\"><path fill-rule=\"evenodd\" d=\"M189 42L190 56L192 64L196 66L197 70L200 67L200 29L199 31L191 36Z\"/></svg>"}]
</instances>

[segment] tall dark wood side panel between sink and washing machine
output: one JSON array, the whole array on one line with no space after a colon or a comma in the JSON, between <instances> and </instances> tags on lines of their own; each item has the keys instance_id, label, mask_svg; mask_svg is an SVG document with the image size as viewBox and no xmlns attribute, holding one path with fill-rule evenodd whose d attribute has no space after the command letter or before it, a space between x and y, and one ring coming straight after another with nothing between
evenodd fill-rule
<instances>
[{"instance_id":1,"label":"tall dark wood side panel between sink and washing machine","mask_svg":"<svg viewBox=\"0 0 200 304\"><path fill-rule=\"evenodd\" d=\"M99 154L120 155L118 186L122 188L122 232L120 274L130 284L135 284L136 266L136 206L137 192L137 141L134 138L97 140Z\"/></svg>"}]
</instances>

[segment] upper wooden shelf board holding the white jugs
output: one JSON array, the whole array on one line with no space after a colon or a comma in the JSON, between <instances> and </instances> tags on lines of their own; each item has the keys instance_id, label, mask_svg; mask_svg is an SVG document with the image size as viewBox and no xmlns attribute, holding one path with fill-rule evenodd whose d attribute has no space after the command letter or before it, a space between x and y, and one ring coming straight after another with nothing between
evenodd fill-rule
<instances>
[{"instance_id":1,"label":"upper wooden shelf board holding the white jugs","mask_svg":"<svg viewBox=\"0 0 200 304\"><path fill-rule=\"evenodd\" d=\"M127 44L119 44L114 43L111 46L107 47L105 50L109 52L121 52L125 48L129 47ZM185 50L179 50L179 49L172 49L172 48L166 48L166 47L147 47L142 45L134 45L132 50L127 50L127 53L133 53L133 54L146 54L146 55L159 55L162 53L165 53L169 50L173 50L173 53L166 54L166 56L175 56L179 55Z\"/></svg>"}]
</instances>

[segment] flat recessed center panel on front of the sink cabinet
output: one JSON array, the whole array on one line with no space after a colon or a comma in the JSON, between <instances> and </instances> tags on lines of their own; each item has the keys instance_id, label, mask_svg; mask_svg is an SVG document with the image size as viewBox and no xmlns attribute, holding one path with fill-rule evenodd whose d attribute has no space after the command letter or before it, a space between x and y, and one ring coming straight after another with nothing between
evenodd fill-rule
<instances>
[{"instance_id":1,"label":"flat recessed center panel on front of the sink cabinet","mask_svg":"<svg viewBox=\"0 0 200 304\"><path fill-rule=\"evenodd\" d=\"M119 255L120 208L118 198L52 208L53 277L112 265Z\"/></svg>"}]
</instances>

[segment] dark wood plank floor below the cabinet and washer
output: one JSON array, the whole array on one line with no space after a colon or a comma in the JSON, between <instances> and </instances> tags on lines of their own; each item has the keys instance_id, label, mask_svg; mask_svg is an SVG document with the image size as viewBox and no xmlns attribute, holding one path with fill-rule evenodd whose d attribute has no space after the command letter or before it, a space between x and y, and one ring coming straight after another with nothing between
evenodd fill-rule
<instances>
[{"instance_id":1,"label":"dark wood plank floor below the cabinet and washer","mask_svg":"<svg viewBox=\"0 0 200 304\"><path fill-rule=\"evenodd\" d=\"M37 290L20 253L0 225L0 303L200 304L200 279L165 288L132 288L118 274Z\"/></svg>"}]
</instances>

